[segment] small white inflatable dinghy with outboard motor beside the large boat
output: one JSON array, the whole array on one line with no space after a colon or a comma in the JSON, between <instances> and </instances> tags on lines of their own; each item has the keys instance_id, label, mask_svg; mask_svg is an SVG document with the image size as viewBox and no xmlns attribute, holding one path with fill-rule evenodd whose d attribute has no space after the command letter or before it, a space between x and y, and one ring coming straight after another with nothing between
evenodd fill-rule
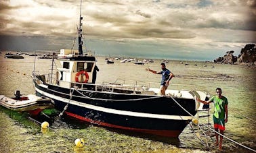
<instances>
[{"instance_id":1,"label":"small white inflatable dinghy with outboard motor beside the large boat","mask_svg":"<svg viewBox=\"0 0 256 153\"><path fill-rule=\"evenodd\" d=\"M28 94L27 96L22 96L19 90L16 90L15 97L7 97L0 95L0 104L7 109L12 111L28 112L33 115L37 115L43 109L53 108L54 105L50 98L43 98L33 94Z\"/></svg>"}]
</instances>

